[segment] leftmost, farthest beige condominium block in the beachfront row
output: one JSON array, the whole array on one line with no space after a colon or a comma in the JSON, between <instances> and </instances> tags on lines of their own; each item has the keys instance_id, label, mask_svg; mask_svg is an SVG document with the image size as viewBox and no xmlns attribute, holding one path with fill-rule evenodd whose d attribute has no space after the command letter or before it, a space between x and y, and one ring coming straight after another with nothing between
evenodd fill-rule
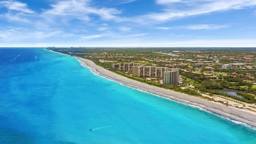
<instances>
[{"instance_id":1,"label":"leftmost, farthest beige condominium block in the beachfront row","mask_svg":"<svg viewBox=\"0 0 256 144\"><path fill-rule=\"evenodd\" d=\"M133 63L133 62L119 62L117 64L112 64L112 68L117 68L122 72L132 72L133 66L146 66L146 64Z\"/></svg>"}]
</instances>

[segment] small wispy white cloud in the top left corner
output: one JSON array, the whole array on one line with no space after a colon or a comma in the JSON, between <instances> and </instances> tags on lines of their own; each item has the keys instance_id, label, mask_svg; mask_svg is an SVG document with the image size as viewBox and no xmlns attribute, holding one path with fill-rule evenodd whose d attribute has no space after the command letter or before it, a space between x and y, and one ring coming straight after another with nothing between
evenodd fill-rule
<instances>
[{"instance_id":1,"label":"small wispy white cloud in the top left corner","mask_svg":"<svg viewBox=\"0 0 256 144\"><path fill-rule=\"evenodd\" d=\"M22 2L17 2L14 0L3 0L0 1L0 7L5 7L8 10L16 10L27 14L34 14L33 10L30 10L27 4Z\"/></svg>"}]
</instances>

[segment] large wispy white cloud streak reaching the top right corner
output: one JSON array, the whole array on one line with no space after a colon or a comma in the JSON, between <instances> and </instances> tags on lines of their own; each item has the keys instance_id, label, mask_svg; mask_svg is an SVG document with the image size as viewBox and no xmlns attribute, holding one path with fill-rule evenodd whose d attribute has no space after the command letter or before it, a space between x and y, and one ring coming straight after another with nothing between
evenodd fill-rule
<instances>
[{"instance_id":1,"label":"large wispy white cloud streak reaching the top right corner","mask_svg":"<svg viewBox=\"0 0 256 144\"><path fill-rule=\"evenodd\" d=\"M176 6L176 2L180 2ZM237 10L256 5L256 0L156 0L165 9L162 12L151 12L136 17L141 23L148 20L168 21L188 16L208 14L211 12L223 12L226 10ZM180 5L183 8L180 8Z\"/></svg>"}]
</instances>

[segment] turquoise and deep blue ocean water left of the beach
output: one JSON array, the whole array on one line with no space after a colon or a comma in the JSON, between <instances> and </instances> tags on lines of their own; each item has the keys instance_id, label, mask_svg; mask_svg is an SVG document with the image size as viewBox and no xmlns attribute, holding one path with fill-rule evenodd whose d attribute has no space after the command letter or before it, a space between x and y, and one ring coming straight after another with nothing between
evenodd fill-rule
<instances>
[{"instance_id":1,"label":"turquoise and deep blue ocean water left of the beach","mask_svg":"<svg viewBox=\"0 0 256 144\"><path fill-rule=\"evenodd\" d=\"M252 128L96 76L44 48L1 48L0 88L0 144L256 143Z\"/></svg>"}]
</instances>

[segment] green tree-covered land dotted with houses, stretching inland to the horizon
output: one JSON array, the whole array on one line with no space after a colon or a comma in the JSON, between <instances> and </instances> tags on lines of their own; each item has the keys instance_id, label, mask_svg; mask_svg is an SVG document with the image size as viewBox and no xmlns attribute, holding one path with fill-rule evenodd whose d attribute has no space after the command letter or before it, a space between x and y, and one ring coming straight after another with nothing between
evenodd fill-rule
<instances>
[{"instance_id":1,"label":"green tree-covered land dotted with houses, stretching inland to the horizon","mask_svg":"<svg viewBox=\"0 0 256 144\"><path fill-rule=\"evenodd\" d=\"M52 50L92 60L107 70L153 86L202 96L198 93L199 90L209 95L217 94L241 102L256 103L252 98L256 95L254 48L52 48ZM169 53L174 55L170 56ZM118 62L178 67L182 75L181 85L163 85L158 83L159 80L156 82L146 78L135 78L129 73L112 68L111 64ZM232 68L224 68L224 64L232 64ZM243 98L218 91L223 88L238 90Z\"/></svg>"}]
</instances>

